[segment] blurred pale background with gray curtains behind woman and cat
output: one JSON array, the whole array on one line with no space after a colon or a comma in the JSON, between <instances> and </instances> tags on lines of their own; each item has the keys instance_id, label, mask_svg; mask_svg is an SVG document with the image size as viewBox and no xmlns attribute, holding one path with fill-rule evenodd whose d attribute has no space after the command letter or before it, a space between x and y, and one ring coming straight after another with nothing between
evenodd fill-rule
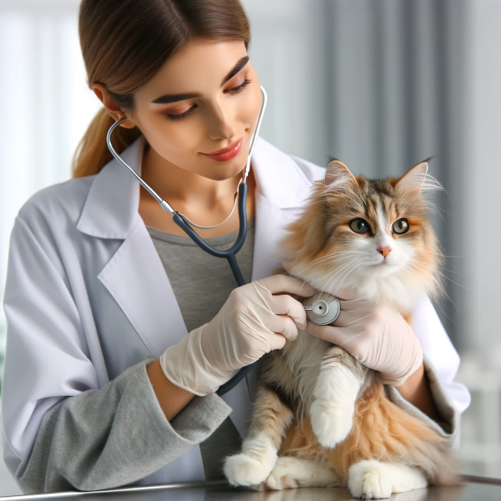
<instances>
[{"instance_id":1,"label":"blurred pale background with gray curtains behind woman and cat","mask_svg":"<svg viewBox=\"0 0 501 501\"><path fill-rule=\"evenodd\" d=\"M78 0L0 0L0 299L21 205L70 178L101 103L85 84ZM501 477L498 218L501 0L243 0L269 104L261 135L354 173L437 155L434 218L449 299L436 309L471 392L463 472ZM0 374L5 348L0 309ZM0 495L21 491L0 461Z\"/></svg>"}]
</instances>

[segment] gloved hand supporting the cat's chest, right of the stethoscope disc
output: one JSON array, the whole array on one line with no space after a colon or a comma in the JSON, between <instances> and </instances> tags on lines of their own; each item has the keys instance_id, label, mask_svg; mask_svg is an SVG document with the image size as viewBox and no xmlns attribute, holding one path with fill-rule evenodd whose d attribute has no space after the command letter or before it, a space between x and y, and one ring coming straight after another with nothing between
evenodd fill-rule
<instances>
[{"instance_id":1,"label":"gloved hand supporting the cat's chest, right of the stethoscope disc","mask_svg":"<svg viewBox=\"0 0 501 501\"><path fill-rule=\"evenodd\" d=\"M349 290L338 294L341 311L333 324L308 321L306 330L379 371L383 383L400 386L423 361L421 345L410 325L391 305L375 305Z\"/></svg>"}]
</instances>

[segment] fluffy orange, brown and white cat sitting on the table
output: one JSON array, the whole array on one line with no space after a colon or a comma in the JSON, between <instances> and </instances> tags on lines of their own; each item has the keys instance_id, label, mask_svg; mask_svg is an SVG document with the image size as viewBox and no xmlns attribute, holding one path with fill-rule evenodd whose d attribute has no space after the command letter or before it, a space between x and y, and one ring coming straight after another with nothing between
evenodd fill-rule
<instances>
[{"instance_id":1,"label":"fluffy orange, brown and white cat sitting on the table","mask_svg":"<svg viewBox=\"0 0 501 501\"><path fill-rule=\"evenodd\" d=\"M425 196L441 186L427 175L428 160L398 179L374 180L332 159L280 240L291 273L319 291L350 287L390 301L410 323L424 294L443 293ZM376 237L391 243L393 266L374 266ZM344 486L364 499L454 484L456 469L446 438L392 403L378 372L302 330L261 360L241 452L224 460L232 485Z\"/></svg>"}]
</instances>

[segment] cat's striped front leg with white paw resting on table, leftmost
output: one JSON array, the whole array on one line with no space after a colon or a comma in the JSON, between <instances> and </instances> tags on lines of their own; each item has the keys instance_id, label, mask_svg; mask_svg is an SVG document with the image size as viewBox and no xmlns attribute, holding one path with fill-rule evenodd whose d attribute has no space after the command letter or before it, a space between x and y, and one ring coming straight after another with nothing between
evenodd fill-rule
<instances>
[{"instance_id":1,"label":"cat's striped front leg with white paw resting on table, leftmost","mask_svg":"<svg viewBox=\"0 0 501 501\"><path fill-rule=\"evenodd\" d=\"M264 386L258 389L242 451L224 461L224 474L231 485L258 486L266 480L292 418L292 410L274 391Z\"/></svg>"}]
</instances>

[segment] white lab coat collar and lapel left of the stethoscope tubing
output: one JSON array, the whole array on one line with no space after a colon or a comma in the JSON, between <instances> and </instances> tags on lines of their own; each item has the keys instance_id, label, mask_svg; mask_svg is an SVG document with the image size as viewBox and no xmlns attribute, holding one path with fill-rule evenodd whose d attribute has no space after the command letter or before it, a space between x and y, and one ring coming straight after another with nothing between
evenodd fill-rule
<instances>
[{"instance_id":1,"label":"white lab coat collar and lapel left of the stethoscope tubing","mask_svg":"<svg viewBox=\"0 0 501 501\"><path fill-rule=\"evenodd\" d=\"M120 156L141 173L140 136ZM124 239L98 275L152 356L178 343L187 330L174 292L143 219L139 182L115 159L97 174L77 227L101 238ZM166 214L166 217L169 217Z\"/></svg>"}]
</instances>

